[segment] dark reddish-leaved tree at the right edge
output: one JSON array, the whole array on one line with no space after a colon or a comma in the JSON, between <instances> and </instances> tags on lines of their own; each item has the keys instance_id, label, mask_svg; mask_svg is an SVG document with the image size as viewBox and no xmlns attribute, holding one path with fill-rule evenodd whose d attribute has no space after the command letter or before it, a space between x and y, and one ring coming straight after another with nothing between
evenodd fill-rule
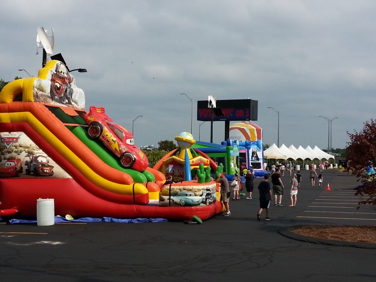
<instances>
[{"instance_id":1,"label":"dark reddish-leaved tree at the right edge","mask_svg":"<svg viewBox=\"0 0 376 282\"><path fill-rule=\"evenodd\" d=\"M350 137L349 146L346 148L347 171L351 171L362 183L355 195L369 196L359 204L376 205L376 173L366 173L367 167L376 164L376 120L366 121L360 132L347 134Z\"/></svg>"}]
</instances>

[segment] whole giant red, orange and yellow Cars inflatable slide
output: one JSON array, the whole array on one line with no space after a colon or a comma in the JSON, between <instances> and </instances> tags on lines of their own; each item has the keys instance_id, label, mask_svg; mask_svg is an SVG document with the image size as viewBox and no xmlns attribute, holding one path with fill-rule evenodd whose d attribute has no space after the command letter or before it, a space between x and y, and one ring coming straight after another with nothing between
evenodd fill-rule
<instances>
[{"instance_id":1,"label":"whole giant red, orange and yellow Cars inflatable slide","mask_svg":"<svg viewBox=\"0 0 376 282\"><path fill-rule=\"evenodd\" d=\"M102 107L85 110L84 92L58 60L2 89L0 138L1 217L34 217L41 198L73 217L189 220L222 210L206 169L212 161L191 153L193 137L181 136L162 172L148 167L129 130ZM179 164L184 177L164 186L164 173Z\"/></svg>"}]
</instances>

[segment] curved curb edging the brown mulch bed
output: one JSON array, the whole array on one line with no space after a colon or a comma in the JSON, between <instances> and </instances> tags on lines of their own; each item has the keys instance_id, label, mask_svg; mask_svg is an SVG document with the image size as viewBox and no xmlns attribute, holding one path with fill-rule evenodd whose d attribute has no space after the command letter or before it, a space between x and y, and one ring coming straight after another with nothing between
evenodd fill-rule
<instances>
[{"instance_id":1,"label":"curved curb edging the brown mulch bed","mask_svg":"<svg viewBox=\"0 0 376 282\"><path fill-rule=\"evenodd\" d=\"M362 249L376 249L376 244L373 244L373 243L337 241L337 240L329 240L329 239L316 238L316 237L296 234L295 232L290 231L290 227L292 226L282 228L278 231L278 233L289 239L306 242L306 243L339 246L339 247L362 248Z\"/></svg>"}]
</instances>

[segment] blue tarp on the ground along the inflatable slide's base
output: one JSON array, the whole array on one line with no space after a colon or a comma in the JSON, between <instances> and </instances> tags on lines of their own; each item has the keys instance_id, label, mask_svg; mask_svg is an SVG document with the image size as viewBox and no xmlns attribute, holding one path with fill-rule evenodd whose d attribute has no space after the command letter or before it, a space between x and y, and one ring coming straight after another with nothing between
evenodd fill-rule
<instances>
[{"instance_id":1,"label":"blue tarp on the ground along the inflatable slide's base","mask_svg":"<svg viewBox=\"0 0 376 282\"><path fill-rule=\"evenodd\" d=\"M120 219L113 217L82 217L78 219L66 219L62 216L55 216L55 223L64 222L118 222L118 223L140 223L140 222L166 222L167 219L164 218L135 218L135 219ZM11 219L9 224L36 224L37 220L25 220L25 219Z\"/></svg>"}]
</instances>

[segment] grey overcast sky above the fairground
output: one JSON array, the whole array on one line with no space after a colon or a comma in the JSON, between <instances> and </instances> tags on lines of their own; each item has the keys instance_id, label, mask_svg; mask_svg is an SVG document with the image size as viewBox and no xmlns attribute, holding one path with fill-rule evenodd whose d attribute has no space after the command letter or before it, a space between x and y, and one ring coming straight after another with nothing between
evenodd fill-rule
<instances>
[{"instance_id":1,"label":"grey overcast sky above the fairground","mask_svg":"<svg viewBox=\"0 0 376 282\"><path fill-rule=\"evenodd\" d=\"M347 131L375 118L374 0L1 0L0 78L36 76L37 27L51 27L91 105L105 107L156 145L190 131L210 141L196 120L197 100L258 100L263 142L344 148ZM134 123L135 118L142 115ZM232 122L233 123L233 122ZM224 140L224 122L213 141Z\"/></svg>"}]
</instances>

